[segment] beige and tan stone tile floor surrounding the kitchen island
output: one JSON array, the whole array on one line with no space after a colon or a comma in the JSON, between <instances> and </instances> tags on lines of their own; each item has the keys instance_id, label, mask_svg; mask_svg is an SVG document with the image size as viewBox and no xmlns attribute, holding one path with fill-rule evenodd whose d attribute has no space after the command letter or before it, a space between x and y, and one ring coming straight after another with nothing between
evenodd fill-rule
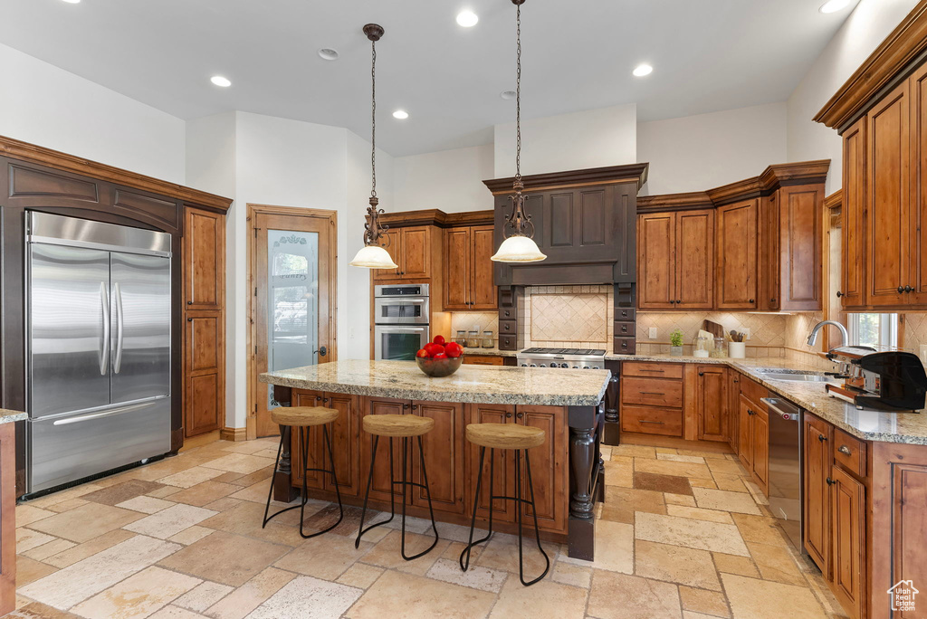
<instances>
[{"instance_id":1,"label":"beige and tan stone tile floor surrounding the kitchen island","mask_svg":"<svg viewBox=\"0 0 927 619\"><path fill-rule=\"evenodd\" d=\"M732 454L603 450L608 486L595 562L548 543L550 574L522 587L511 536L493 537L462 574L461 526L439 524L438 547L413 562L400 559L399 532L387 527L355 550L356 508L335 531L309 540L298 535L298 511L261 529L276 441L215 441L20 505L19 608L10 616L843 616ZM321 501L307 510L307 524L319 528L335 514ZM430 543L418 535L426 528L411 521L412 551ZM527 554L528 574L539 560Z\"/></svg>"}]
</instances>

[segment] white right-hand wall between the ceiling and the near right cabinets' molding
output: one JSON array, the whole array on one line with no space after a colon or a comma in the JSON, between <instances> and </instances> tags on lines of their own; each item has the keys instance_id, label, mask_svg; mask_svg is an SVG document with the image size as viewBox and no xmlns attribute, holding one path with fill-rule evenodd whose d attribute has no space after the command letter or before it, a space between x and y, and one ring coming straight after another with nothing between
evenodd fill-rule
<instances>
[{"instance_id":1,"label":"white right-hand wall between the ceiling and the near right cabinets' molding","mask_svg":"<svg viewBox=\"0 0 927 619\"><path fill-rule=\"evenodd\" d=\"M828 194L843 186L842 140L835 130L811 119L917 4L861 0L789 97L789 160L831 159Z\"/></svg>"}]
</instances>

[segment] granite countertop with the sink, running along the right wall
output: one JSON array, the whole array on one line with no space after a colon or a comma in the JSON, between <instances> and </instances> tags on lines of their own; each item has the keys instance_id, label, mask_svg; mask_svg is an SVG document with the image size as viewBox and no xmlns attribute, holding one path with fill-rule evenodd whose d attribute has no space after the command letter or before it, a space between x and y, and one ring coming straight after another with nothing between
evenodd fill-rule
<instances>
[{"instance_id":1,"label":"granite countertop with the sink, running along the right wall","mask_svg":"<svg viewBox=\"0 0 927 619\"><path fill-rule=\"evenodd\" d=\"M722 363L738 370L782 398L794 402L806 411L813 412L824 421L830 422L857 438L885 443L907 443L927 445L927 411L884 412L859 410L853 404L833 398L824 391L824 383L794 383L769 380L763 369L821 373L815 368L798 361L787 359L749 358L700 358L673 357L672 355L608 355L608 360L663 361L673 363ZM836 367L836 366L835 366ZM839 381L834 381L839 384Z\"/></svg>"}]
</instances>

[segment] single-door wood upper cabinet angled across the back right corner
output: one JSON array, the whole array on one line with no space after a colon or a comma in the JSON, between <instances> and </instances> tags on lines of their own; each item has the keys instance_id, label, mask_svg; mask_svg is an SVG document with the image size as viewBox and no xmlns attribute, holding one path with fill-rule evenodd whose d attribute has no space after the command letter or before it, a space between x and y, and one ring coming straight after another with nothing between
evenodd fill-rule
<instances>
[{"instance_id":1,"label":"single-door wood upper cabinet angled across the back right corner","mask_svg":"<svg viewBox=\"0 0 927 619\"><path fill-rule=\"evenodd\" d=\"M717 309L756 309L759 200L717 208Z\"/></svg>"}]
</instances>

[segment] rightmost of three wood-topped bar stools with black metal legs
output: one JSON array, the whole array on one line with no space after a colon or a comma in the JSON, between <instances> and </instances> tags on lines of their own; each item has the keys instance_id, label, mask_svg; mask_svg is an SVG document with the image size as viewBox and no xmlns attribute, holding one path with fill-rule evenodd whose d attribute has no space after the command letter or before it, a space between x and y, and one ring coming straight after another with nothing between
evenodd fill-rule
<instances>
[{"instance_id":1,"label":"rightmost of three wood-topped bar stools with black metal legs","mask_svg":"<svg viewBox=\"0 0 927 619\"><path fill-rule=\"evenodd\" d=\"M531 483L531 461L528 459L528 449L543 445L546 439L544 431L525 425L514 423L470 423L466 426L466 439L479 446L479 475L476 477L476 497L473 502L473 519L470 521L470 540L461 552L460 565L464 572L470 567L470 552L474 546L482 544L492 537L492 501L494 499L514 500L518 513L518 579L522 585L534 585L547 575L551 569L551 560L540 545L540 530L538 528L538 511L534 505L534 485ZM473 531L476 526L476 510L479 507L479 486L483 481L483 461L486 458L486 449L489 448L489 532L482 539L473 540ZM515 496L496 496L492 493L492 482L495 476L496 449L513 449L515 452ZM521 452L525 452L525 469L527 470L527 487L530 500L522 499L521 482ZM538 550L544 555L544 572L534 580L525 581L525 561L522 545L522 503L531 506L534 515L534 536L538 540ZM464 555L466 562L464 562Z\"/></svg>"}]
</instances>

